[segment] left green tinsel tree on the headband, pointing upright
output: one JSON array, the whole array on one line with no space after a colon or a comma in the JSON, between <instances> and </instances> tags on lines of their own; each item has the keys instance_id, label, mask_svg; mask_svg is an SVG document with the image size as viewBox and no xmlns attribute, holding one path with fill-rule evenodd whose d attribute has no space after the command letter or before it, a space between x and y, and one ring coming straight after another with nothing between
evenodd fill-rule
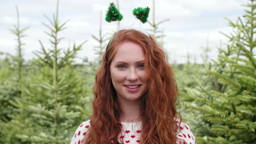
<instances>
[{"instance_id":1,"label":"left green tinsel tree on the headband, pointing upright","mask_svg":"<svg viewBox=\"0 0 256 144\"><path fill-rule=\"evenodd\" d=\"M105 20L107 22L112 22L112 21L121 21L122 19L123 19L123 15L121 15L120 11L117 9L117 7L115 7L115 4L110 3Z\"/></svg>"}]
</instances>

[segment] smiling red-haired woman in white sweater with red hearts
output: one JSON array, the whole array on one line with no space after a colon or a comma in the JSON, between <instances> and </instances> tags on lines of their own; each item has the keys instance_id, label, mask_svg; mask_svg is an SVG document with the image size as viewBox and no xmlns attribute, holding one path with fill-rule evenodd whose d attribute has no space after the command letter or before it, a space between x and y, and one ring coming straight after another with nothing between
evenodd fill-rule
<instances>
[{"instance_id":1,"label":"smiling red-haired woman in white sweater with red hearts","mask_svg":"<svg viewBox=\"0 0 256 144\"><path fill-rule=\"evenodd\" d=\"M93 90L91 119L71 143L196 143L176 111L173 72L153 37L133 29L116 32Z\"/></svg>"}]
</instances>

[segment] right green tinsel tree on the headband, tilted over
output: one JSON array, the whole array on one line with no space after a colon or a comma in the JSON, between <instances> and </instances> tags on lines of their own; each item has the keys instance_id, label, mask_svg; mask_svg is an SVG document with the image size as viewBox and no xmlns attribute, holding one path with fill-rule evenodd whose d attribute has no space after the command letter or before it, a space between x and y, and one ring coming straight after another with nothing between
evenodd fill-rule
<instances>
[{"instance_id":1,"label":"right green tinsel tree on the headband, tilted over","mask_svg":"<svg viewBox=\"0 0 256 144\"><path fill-rule=\"evenodd\" d=\"M149 14L150 8L135 8L132 10L133 15L139 19L142 23L146 23L148 19L148 14Z\"/></svg>"}]
</instances>

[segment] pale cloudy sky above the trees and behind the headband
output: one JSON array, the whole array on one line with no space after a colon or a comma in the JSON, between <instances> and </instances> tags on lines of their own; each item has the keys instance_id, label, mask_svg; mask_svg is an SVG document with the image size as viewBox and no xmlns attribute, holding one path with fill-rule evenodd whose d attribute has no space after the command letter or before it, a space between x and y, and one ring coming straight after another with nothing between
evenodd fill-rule
<instances>
[{"instance_id":1,"label":"pale cloudy sky above the trees and behind the headband","mask_svg":"<svg viewBox=\"0 0 256 144\"><path fill-rule=\"evenodd\" d=\"M21 27L30 27L27 31L27 37L23 38L26 43L24 48L25 59L36 57L33 51L40 50L38 40L42 40L46 47L49 47L49 37L44 33L48 29L42 25L42 22L48 23L44 14L51 19L56 9L55 0L32 1L32 0L0 0L0 51L9 52L15 55L15 35L11 34L8 28L13 28L16 23L15 4L18 5L20 13ZM104 34L117 31L117 24L104 21L104 15L110 2L108 0L60 0L59 20L65 22L69 20L61 36L65 39L60 44L62 49L66 49L73 42L82 43L88 40L79 52L78 57L88 57L89 61L94 61L94 46L98 43L92 39L91 35L98 35L100 28L100 10L103 11L102 31ZM164 48L169 53L170 61L178 63L186 62L187 52L191 59L196 57L197 63L201 63L202 47L208 44L211 47L210 57L216 58L217 47L220 40L226 42L226 38L219 32L229 33L232 31L228 27L227 17L236 21L238 16L244 14L246 0L157 0L155 1L156 22L170 19L159 26L164 30ZM148 23L142 24L132 15L132 9L137 7L153 7L151 0L119 0L120 12L124 19L120 22L121 28L136 28L146 31L150 28ZM150 11L149 21L152 21ZM119 28L120 29L120 28ZM193 60L194 61L194 60ZM79 59L77 60L79 62Z\"/></svg>"}]
</instances>

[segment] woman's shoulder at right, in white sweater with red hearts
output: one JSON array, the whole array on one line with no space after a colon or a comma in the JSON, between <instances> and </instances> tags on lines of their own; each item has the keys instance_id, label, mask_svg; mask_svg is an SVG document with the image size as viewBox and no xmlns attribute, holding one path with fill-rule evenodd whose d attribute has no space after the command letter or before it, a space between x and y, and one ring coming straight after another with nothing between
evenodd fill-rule
<instances>
[{"instance_id":1,"label":"woman's shoulder at right, in white sweater with red hearts","mask_svg":"<svg viewBox=\"0 0 256 144\"><path fill-rule=\"evenodd\" d=\"M196 144L195 136L190 130L189 126L181 121L180 119L176 119L176 124L178 126L177 129L177 142L176 143L191 143Z\"/></svg>"}]
</instances>

